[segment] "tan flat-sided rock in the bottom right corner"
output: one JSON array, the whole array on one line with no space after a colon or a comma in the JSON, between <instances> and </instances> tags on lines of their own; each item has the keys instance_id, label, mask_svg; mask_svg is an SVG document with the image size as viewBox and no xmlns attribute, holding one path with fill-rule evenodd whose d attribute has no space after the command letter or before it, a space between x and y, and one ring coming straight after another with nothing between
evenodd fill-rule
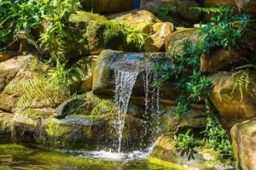
<instances>
[{"instance_id":1,"label":"tan flat-sided rock in the bottom right corner","mask_svg":"<svg viewBox=\"0 0 256 170\"><path fill-rule=\"evenodd\" d=\"M256 119L236 123L231 129L231 137L237 169L255 169Z\"/></svg>"}]
</instances>

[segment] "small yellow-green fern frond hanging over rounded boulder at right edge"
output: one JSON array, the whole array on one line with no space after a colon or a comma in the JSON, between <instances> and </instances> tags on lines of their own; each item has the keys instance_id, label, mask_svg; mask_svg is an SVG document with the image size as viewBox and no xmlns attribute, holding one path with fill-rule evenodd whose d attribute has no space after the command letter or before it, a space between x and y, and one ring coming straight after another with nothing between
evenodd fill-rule
<instances>
[{"instance_id":1,"label":"small yellow-green fern frond hanging over rounded boulder at right edge","mask_svg":"<svg viewBox=\"0 0 256 170\"><path fill-rule=\"evenodd\" d=\"M250 83L249 71L238 71L232 77L236 77L236 80L233 82L233 89L231 94L234 94L235 90L238 88L241 95L241 102L243 100L243 89L247 90Z\"/></svg>"}]
</instances>

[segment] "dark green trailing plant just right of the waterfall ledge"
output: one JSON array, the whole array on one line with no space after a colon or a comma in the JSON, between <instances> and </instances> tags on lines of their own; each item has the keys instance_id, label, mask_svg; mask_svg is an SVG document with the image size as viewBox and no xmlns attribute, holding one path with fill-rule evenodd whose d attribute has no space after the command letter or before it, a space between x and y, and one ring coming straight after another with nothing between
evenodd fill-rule
<instances>
[{"instance_id":1,"label":"dark green trailing plant just right of the waterfall ledge","mask_svg":"<svg viewBox=\"0 0 256 170\"><path fill-rule=\"evenodd\" d=\"M170 77L175 77L175 88L181 89L181 95L177 98L177 107L174 114L183 115L189 111L192 102L201 102L208 98L212 88L212 82L204 77L200 69L201 49L189 41L183 41L180 53L172 52L174 66L170 64L154 65L154 71L159 72L161 77L155 80L154 85L160 85ZM188 72L187 77L183 73Z\"/></svg>"}]
</instances>

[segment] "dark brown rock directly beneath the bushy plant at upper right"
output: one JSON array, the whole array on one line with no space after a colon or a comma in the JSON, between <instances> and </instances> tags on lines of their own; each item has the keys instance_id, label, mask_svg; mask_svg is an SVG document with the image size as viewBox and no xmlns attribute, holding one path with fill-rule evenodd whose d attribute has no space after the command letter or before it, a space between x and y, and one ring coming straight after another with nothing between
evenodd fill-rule
<instances>
[{"instance_id":1,"label":"dark brown rock directly beneath the bushy plant at upper right","mask_svg":"<svg viewBox=\"0 0 256 170\"><path fill-rule=\"evenodd\" d=\"M219 71L241 61L243 56L237 52L230 52L222 48L212 50L211 54L201 54L201 72Z\"/></svg>"}]
</instances>

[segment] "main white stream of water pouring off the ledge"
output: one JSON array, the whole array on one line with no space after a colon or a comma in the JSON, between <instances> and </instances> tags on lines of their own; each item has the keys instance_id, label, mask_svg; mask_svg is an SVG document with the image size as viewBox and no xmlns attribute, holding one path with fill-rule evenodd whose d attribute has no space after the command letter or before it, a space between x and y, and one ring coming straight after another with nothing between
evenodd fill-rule
<instances>
[{"instance_id":1,"label":"main white stream of water pouring off the ledge","mask_svg":"<svg viewBox=\"0 0 256 170\"><path fill-rule=\"evenodd\" d=\"M123 130L125 127L125 114L127 112L132 88L136 82L139 71L115 70L115 105L118 109L118 119L115 123L119 135L118 153L121 151Z\"/></svg>"}]
</instances>

